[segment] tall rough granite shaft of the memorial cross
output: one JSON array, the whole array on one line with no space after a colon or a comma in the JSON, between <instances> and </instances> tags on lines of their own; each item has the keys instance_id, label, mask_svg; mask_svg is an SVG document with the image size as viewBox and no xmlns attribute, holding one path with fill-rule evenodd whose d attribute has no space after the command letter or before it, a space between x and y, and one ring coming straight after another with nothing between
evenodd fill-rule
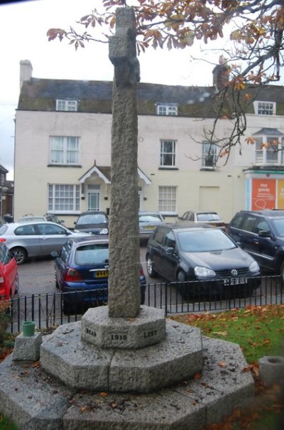
<instances>
[{"instance_id":1,"label":"tall rough granite shaft of the memorial cross","mask_svg":"<svg viewBox=\"0 0 284 430\"><path fill-rule=\"evenodd\" d=\"M136 19L130 7L116 9L109 38L114 65L109 220L109 316L135 318L140 310L137 176Z\"/></svg>"}]
</instances>

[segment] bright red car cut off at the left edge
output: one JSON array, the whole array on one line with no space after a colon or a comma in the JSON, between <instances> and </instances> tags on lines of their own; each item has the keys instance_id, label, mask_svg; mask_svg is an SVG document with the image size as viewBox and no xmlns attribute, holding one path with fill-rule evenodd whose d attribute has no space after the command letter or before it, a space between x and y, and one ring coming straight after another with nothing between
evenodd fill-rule
<instances>
[{"instance_id":1,"label":"bright red car cut off at the left edge","mask_svg":"<svg viewBox=\"0 0 284 430\"><path fill-rule=\"evenodd\" d=\"M18 266L6 244L0 242L0 300L18 292Z\"/></svg>"}]
</instances>

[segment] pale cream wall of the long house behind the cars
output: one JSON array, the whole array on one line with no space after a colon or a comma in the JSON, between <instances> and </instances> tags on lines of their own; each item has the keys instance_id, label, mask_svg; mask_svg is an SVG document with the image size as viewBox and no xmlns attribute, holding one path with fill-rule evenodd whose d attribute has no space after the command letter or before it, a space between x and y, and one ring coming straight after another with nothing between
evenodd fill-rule
<instances>
[{"instance_id":1,"label":"pale cream wall of the long house behind the cars","mask_svg":"<svg viewBox=\"0 0 284 430\"><path fill-rule=\"evenodd\" d=\"M280 117L273 117L269 127L281 126ZM263 117L248 115L251 136L263 127ZM141 209L158 210L159 186L177 186L177 213L166 217L175 220L186 210L216 210L229 222L237 210L246 208L244 168L253 163L254 149L243 139L241 153L233 148L229 159L219 158L217 168L202 169L204 129L212 127L212 119L138 117L138 166L151 179L141 183ZM229 120L219 122L217 135L226 136ZM50 136L80 136L80 166L48 166ZM160 168L160 139L176 141L175 168ZM79 112L16 112L15 203L14 218L25 213L43 215L48 211L48 183L79 184L80 178L94 166L111 164L111 114ZM87 183L101 186L100 209L109 208L109 186L97 176ZM207 201L208 200L208 201ZM208 207L206 207L208 204ZM80 212L87 209L87 199L81 199ZM77 214L58 214L72 227Z\"/></svg>"}]
</instances>

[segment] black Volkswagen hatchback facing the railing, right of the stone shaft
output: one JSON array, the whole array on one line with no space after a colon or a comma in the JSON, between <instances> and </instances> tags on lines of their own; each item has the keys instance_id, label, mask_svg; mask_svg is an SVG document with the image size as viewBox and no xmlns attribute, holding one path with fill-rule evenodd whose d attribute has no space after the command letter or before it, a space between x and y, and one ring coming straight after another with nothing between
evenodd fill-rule
<instances>
[{"instance_id":1,"label":"black Volkswagen hatchback facing the railing, right of the stone shaft","mask_svg":"<svg viewBox=\"0 0 284 430\"><path fill-rule=\"evenodd\" d=\"M249 294L260 282L258 263L226 232L209 225L157 227L148 241L146 265L149 276L178 281L184 299L193 290L216 295L235 286L244 287Z\"/></svg>"}]
</instances>

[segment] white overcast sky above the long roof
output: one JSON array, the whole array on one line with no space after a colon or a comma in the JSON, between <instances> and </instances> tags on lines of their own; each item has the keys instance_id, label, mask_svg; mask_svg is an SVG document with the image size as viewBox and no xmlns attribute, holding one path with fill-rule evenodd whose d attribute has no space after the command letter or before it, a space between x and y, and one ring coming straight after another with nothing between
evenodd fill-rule
<instances>
[{"instance_id":1,"label":"white overcast sky above the long roof","mask_svg":"<svg viewBox=\"0 0 284 430\"><path fill-rule=\"evenodd\" d=\"M0 6L0 164L9 170L8 179L13 179L13 119L21 60L31 61L33 77L112 80L107 44L88 43L76 52L66 42L48 42L46 36L49 28L69 28L101 4L102 0L29 0ZM215 47L216 43L211 46ZM205 54L197 45L185 50L148 49L139 56L141 82L211 86L214 65L193 61L191 55L198 58ZM213 51L207 55L218 62Z\"/></svg>"}]
</instances>

